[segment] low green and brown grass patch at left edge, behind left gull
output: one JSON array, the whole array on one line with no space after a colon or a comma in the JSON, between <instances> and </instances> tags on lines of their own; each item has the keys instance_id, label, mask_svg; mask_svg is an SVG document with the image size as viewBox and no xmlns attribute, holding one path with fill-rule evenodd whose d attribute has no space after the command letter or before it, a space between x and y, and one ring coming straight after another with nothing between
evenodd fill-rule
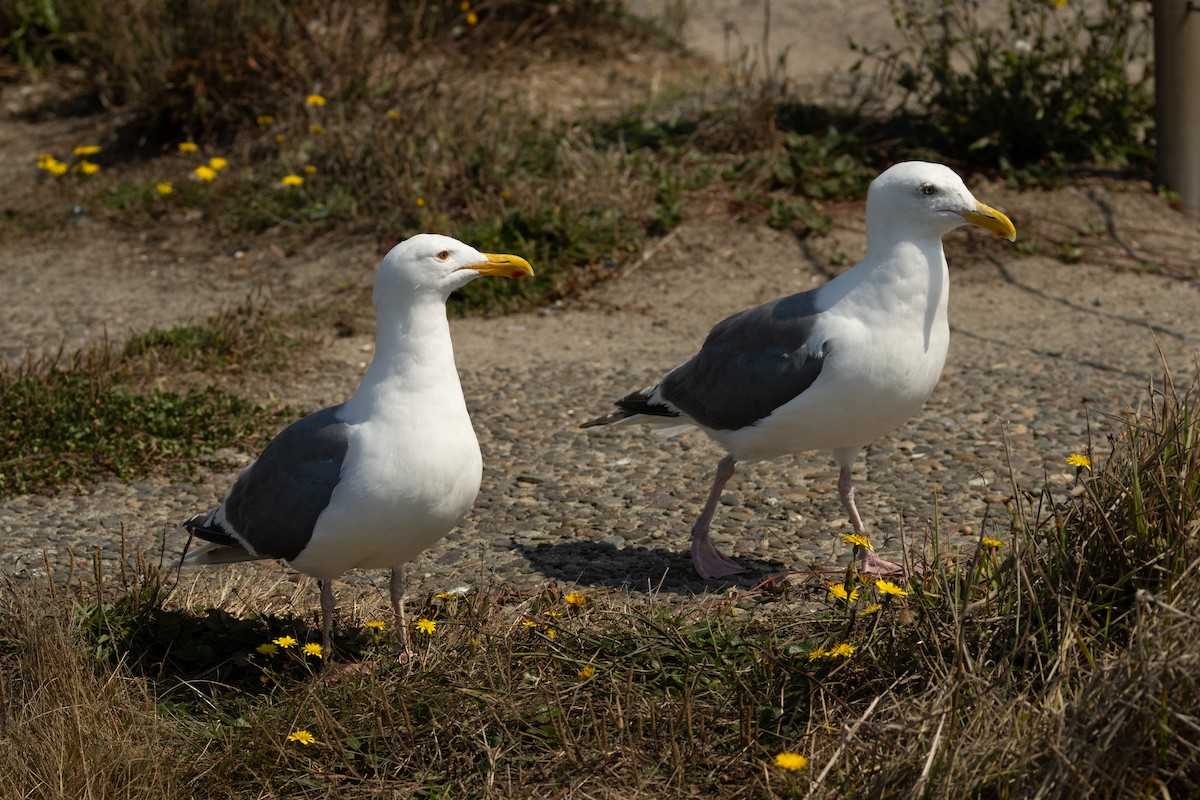
<instances>
[{"instance_id":1,"label":"low green and brown grass patch at left edge, behind left gull","mask_svg":"<svg viewBox=\"0 0 1200 800\"><path fill-rule=\"evenodd\" d=\"M199 325L133 336L121 350L106 341L67 359L5 367L0 497L82 487L104 476L191 475L198 461L229 443L253 450L295 410L208 381L172 391L154 379L239 365L264 371L307 343L250 302Z\"/></svg>"}]
</instances>

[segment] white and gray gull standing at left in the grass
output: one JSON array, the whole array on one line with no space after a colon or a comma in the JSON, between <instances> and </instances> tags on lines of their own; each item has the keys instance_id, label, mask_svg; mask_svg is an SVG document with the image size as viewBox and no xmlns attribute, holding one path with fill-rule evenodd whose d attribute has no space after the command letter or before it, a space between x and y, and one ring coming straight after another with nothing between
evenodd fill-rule
<instances>
[{"instance_id":1,"label":"white and gray gull standing at left in the grass","mask_svg":"<svg viewBox=\"0 0 1200 800\"><path fill-rule=\"evenodd\" d=\"M376 272L376 353L358 391L293 422L216 509L184 527L208 541L185 565L283 559L320 582L330 649L332 579L391 569L404 632L404 563L445 536L475 503L482 457L458 384L446 299L481 275L533 275L517 255L420 234Z\"/></svg>"}]
</instances>

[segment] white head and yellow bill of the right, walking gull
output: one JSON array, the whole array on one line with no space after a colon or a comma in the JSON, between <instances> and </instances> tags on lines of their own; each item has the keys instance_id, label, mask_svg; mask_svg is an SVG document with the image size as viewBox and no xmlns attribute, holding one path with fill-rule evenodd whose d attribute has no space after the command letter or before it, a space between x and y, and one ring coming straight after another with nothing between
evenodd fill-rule
<instances>
[{"instance_id":1,"label":"white head and yellow bill of the right, walking gull","mask_svg":"<svg viewBox=\"0 0 1200 800\"><path fill-rule=\"evenodd\" d=\"M1016 241L1012 221L974 199L962 179L944 164L901 162L871 181L866 193L868 241L896 236L940 240L964 224Z\"/></svg>"}]
</instances>

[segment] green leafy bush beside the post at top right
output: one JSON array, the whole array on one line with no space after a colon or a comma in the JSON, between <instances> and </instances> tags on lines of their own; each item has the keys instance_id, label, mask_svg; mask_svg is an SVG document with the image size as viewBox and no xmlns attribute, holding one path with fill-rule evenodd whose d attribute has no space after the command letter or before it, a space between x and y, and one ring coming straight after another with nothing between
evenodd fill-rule
<instances>
[{"instance_id":1,"label":"green leafy bush beside the post at top right","mask_svg":"<svg viewBox=\"0 0 1200 800\"><path fill-rule=\"evenodd\" d=\"M1146 4L1008 0L1000 25L976 2L890 6L905 46L874 56L940 152L1034 176L1150 164Z\"/></svg>"}]
</instances>

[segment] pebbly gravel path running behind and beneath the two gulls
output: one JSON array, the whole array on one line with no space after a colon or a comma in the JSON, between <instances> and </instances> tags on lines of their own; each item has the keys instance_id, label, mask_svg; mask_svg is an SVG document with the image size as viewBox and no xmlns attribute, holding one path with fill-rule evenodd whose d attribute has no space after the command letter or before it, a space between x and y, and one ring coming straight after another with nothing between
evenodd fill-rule
<instances>
[{"instance_id":1,"label":"pebbly gravel path running behind and beneath the two gulls","mask_svg":"<svg viewBox=\"0 0 1200 800\"><path fill-rule=\"evenodd\" d=\"M1026 196L983 187L977 194L1009 211L1020 231L1036 233L1048 207L1086 218L1091 205L1082 191ZM1148 194L1118 199L1129 205L1118 227L1122 217L1170 213ZM409 566L412 589L535 589L557 581L670 600L845 564L840 536L848 524L828 453L739 469L714 536L750 572L706 584L686 557L688 533L720 449L701 434L660 439L636 428L577 426L690 355L725 314L826 281L836 253L857 261L860 217L860 207L846 209L830 236L803 242L732 222L689 224L628 277L576 306L457 320L484 488L468 523ZM1157 348L1189 378L1200 343L1193 282L1022 255L966 230L948 245L953 338L942 383L923 414L866 450L856 474L859 510L890 558L901 537L919 545L935 530L952 549L971 546L989 505L1012 494L1006 438L1021 488L1037 489L1046 476L1068 485L1063 459L1087 446L1088 414L1102 453L1104 414L1145 397L1147 379L1160 373ZM293 379L277 377L275 391L306 408L337 402L353 390L370 348L368 336L334 339ZM184 543L178 521L214 504L250 457L228 451L227 468L198 483L106 482L84 494L0 504L0 570L37 576L49 563L61 571L71 554L86 558L97 547L114 569L122 530L127 555L156 559L166 542L174 558ZM994 505L991 519L1001 512ZM314 607L286 570L239 565L220 579L211 572L186 579L206 585L211 601L214 587L218 594L236 591L238 582L260 587L269 575L278 579L277 596L305 612ZM343 590L343 608L372 587L383 596L382 572L348 582L358 593Z\"/></svg>"}]
</instances>

